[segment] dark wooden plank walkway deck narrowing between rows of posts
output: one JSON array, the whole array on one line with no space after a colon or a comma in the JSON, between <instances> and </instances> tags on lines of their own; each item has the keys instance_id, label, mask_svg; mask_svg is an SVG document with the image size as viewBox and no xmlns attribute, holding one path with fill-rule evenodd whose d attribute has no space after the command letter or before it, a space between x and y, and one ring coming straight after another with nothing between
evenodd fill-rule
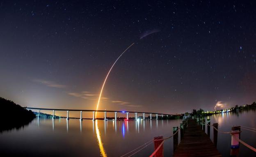
<instances>
[{"instance_id":1,"label":"dark wooden plank walkway deck narrowing between rows of posts","mask_svg":"<svg viewBox=\"0 0 256 157\"><path fill-rule=\"evenodd\" d=\"M222 155L197 122L191 119L173 157L222 157Z\"/></svg>"}]
</instances>

